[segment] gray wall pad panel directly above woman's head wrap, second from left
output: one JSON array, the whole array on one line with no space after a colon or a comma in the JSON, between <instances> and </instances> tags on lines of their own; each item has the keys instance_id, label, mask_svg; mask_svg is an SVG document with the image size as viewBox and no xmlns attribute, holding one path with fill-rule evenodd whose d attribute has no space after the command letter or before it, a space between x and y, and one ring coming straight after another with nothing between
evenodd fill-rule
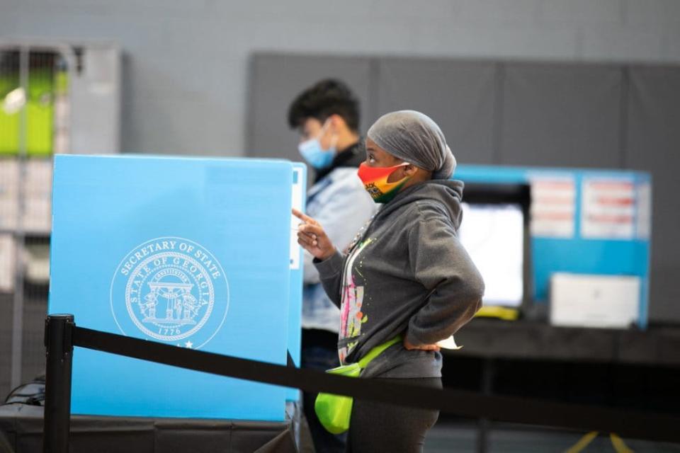
<instances>
[{"instance_id":1,"label":"gray wall pad panel directly above woman's head wrap, second from left","mask_svg":"<svg viewBox=\"0 0 680 453\"><path fill-rule=\"evenodd\" d=\"M494 63L380 59L378 115L413 109L441 127L459 162L494 162Z\"/></svg>"}]
</instances>

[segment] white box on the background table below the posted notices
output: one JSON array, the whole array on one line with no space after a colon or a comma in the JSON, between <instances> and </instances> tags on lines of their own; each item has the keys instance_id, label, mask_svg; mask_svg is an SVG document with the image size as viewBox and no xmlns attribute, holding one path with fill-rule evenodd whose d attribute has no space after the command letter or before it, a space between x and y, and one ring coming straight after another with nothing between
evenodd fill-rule
<instances>
[{"instance_id":1,"label":"white box on the background table below the posted notices","mask_svg":"<svg viewBox=\"0 0 680 453\"><path fill-rule=\"evenodd\" d=\"M640 278L555 273L550 278L553 326L628 328L638 320Z\"/></svg>"}]
</instances>

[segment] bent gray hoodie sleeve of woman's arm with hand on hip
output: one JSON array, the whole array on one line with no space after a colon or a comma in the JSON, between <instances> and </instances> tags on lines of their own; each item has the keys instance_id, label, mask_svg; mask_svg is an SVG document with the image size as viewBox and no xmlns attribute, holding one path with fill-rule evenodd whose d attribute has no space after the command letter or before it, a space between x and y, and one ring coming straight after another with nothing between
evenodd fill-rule
<instances>
[{"instance_id":1,"label":"bent gray hoodie sleeve of woman's arm with hand on hip","mask_svg":"<svg viewBox=\"0 0 680 453\"><path fill-rule=\"evenodd\" d=\"M419 206L419 221L409 231L409 260L415 280L430 294L409 320L407 340L414 345L436 343L480 309L484 281L443 207Z\"/></svg>"}]
</instances>

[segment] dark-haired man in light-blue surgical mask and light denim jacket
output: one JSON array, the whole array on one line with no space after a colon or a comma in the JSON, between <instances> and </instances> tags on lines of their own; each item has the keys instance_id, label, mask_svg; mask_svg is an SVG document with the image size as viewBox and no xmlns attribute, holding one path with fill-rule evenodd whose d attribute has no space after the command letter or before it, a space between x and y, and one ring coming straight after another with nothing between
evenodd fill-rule
<instances>
[{"instance_id":1,"label":"dark-haired man in light-blue surgical mask and light denim jacket","mask_svg":"<svg viewBox=\"0 0 680 453\"><path fill-rule=\"evenodd\" d=\"M358 100L341 81L319 81L291 103L288 125L300 133L298 149L314 168L314 185L307 193L307 214L317 219L329 238L344 248L377 210L356 174L365 160L359 135ZM330 369L339 366L340 311L324 292L312 259L305 252L301 365ZM315 449L344 452L344 436L331 435L319 423L314 398L316 394L305 393L302 404Z\"/></svg>"}]
</instances>

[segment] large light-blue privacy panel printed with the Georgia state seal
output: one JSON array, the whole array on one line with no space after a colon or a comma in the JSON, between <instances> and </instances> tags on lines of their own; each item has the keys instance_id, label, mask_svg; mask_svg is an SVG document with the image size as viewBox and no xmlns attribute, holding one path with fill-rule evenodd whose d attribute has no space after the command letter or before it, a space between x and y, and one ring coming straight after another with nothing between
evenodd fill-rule
<instances>
[{"instance_id":1,"label":"large light-blue privacy panel printed with the Georgia state seal","mask_svg":"<svg viewBox=\"0 0 680 453\"><path fill-rule=\"evenodd\" d=\"M50 313L284 365L293 166L55 156ZM72 412L283 420L283 387L77 348Z\"/></svg>"}]
</instances>

